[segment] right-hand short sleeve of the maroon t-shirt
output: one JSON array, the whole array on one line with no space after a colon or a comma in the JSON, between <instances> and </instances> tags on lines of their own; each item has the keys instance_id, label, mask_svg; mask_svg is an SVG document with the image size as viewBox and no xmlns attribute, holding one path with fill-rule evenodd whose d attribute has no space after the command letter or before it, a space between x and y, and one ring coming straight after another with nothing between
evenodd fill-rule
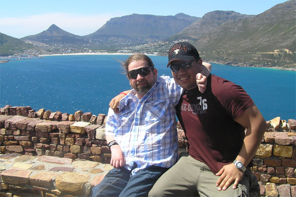
<instances>
[{"instance_id":1,"label":"right-hand short sleeve of the maroon t-shirt","mask_svg":"<svg viewBox=\"0 0 296 197\"><path fill-rule=\"evenodd\" d=\"M228 116L232 117L233 120L254 103L241 86L227 80L220 81L216 91L217 99L221 102Z\"/></svg>"}]
</instances>

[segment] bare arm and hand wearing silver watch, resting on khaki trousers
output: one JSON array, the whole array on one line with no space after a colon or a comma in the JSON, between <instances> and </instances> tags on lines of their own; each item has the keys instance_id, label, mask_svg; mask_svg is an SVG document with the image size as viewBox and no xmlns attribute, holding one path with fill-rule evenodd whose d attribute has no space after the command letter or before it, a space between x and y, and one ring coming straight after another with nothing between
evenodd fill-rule
<instances>
[{"instance_id":1,"label":"bare arm and hand wearing silver watch, resting on khaki trousers","mask_svg":"<svg viewBox=\"0 0 296 197\"><path fill-rule=\"evenodd\" d=\"M266 130L266 122L255 104L248 107L235 121L247 129L243 146L235 160L247 166L261 143ZM236 189L244 172L236 168L234 164L228 164L224 165L216 175L220 176L216 182L218 190L226 190L233 181L233 189Z\"/></svg>"}]
</instances>

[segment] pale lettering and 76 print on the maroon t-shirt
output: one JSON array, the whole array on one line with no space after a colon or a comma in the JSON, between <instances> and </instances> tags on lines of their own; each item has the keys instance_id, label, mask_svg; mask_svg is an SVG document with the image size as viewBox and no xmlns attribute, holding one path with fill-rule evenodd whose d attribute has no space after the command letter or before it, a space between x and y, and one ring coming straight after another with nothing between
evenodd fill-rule
<instances>
[{"instance_id":1,"label":"pale lettering and 76 print on the maroon t-shirt","mask_svg":"<svg viewBox=\"0 0 296 197\"><path fill-rule=\"evenodd\" d=\"M197 103L193 103L193 104L182 103L181 110L191 111L193 115L207 113L207 109L208 109L207 99L202 99L202 97L197 97L196 99L197 99Z\"/></svg>"}]
</instances>

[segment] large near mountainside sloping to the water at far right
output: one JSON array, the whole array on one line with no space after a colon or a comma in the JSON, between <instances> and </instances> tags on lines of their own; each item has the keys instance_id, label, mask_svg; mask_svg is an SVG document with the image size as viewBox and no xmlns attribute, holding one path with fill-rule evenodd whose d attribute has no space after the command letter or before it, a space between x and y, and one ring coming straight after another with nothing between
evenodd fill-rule
<instances>
[{"instance_id":1,"label":"large near mountainside sloping to the water at far right","mask_svg":"<svg viewBox=\"0 0 296 197\"><path fill-rule=\"evenodd\" d=\"M194 40L204 59L230 65L295 66L296 0L228 21Z\"/></svg>"}]
</instances>

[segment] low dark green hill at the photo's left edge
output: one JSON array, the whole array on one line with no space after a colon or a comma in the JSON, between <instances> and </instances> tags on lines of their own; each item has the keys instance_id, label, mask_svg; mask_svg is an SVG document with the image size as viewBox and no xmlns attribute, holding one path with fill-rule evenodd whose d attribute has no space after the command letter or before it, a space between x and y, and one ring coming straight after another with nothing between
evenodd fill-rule
<instances>
[{"instance_id":1,"label":"low dark green hill at the photo's left edge","mask_svg":"<svg viewBox=\"0 0 296 197\"><path fill-rule=\"evenodd\" d=\"M23 52L28 49L34 49L33 44L0 33L0 56L9 56L13 55L15 51Z\"/></svg>"}]
</instances>

